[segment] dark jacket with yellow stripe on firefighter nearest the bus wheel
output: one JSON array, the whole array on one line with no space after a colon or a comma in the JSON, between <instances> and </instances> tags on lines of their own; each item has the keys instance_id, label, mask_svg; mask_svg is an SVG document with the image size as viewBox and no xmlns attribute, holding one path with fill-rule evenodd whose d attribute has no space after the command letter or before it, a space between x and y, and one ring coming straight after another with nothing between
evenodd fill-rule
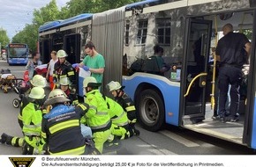
<instances>
[{"instance_id":1,"label":"dark jacket with yellow stripe on firefighter nearest the bus wheel","mask_svg":"<svg viewBox=\"0 0 256 167\"><path fill-rule=\"evenodd\" d=\"M127 113L127 117L130 120L130 123L136 123L136 108L132 101L132 98L124 93L123 96L117 97L116 101L119 105L123 107L124 111Z\"/></svg>"}]
</instances>

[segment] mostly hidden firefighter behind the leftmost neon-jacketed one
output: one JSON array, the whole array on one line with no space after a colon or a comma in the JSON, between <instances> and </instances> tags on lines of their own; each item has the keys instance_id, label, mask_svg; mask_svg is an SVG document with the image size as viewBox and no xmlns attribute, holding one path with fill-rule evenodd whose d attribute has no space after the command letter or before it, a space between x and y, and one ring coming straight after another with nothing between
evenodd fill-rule
<instances>
[{"instance_id":1,"label":"mostly hidden firefighter behind the leftmost neon-jacketed one","mask_svg":"<svg viewBox=\"0 0 256 167\"><path fill-rule=\"evenodd\" d=\"M30 81L30 84L31 84L31 89L34 88L34 87L45 88L46 85L47 85L47 81L43 76L35 75L32 78L32 80ZM31 89L29 89L27 91L27 93L29 93L31 91ZM19 126L21 127L21 129L23 128L22 111L23 111L24 107L29 104L29 102L30 101L29 101L28 96L24 95L23 98L21 99L20 109L19 109L19 116L18 116L18 122L19 122Z\"/></svg>"}]
</instances>

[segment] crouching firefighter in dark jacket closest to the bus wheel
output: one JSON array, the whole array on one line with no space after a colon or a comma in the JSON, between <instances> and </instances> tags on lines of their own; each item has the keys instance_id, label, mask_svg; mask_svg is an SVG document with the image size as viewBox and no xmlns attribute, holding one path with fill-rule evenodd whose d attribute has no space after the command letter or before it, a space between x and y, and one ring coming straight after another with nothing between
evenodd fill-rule
<instances>
[{"instance_id":1,"label":"crouching firefighter in dark jacket closest to the bus wheel","mask_svg":"<svg viewBox=\"0 0 256 167\"><path fill-rule=\"evenodd\" d=\"M136 108L132 101L132 98L130 98L124 92L124 86L122 86L118 82L111 81L109 84L107 84L107 87L109 88L109 91L112 93L112 95L116 99L117 103L121 105L124 108L124 111L127 113L129 124L133 129L133 133L136 135L139 135L139 130L135 128L137 117L136 117Z\"/></svg>"}]
</instances>

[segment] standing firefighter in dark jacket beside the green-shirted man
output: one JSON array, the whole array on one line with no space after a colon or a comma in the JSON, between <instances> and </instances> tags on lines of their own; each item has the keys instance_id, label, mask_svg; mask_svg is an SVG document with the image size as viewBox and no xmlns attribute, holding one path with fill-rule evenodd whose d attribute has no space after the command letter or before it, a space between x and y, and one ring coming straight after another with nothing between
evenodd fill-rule
<instances>
[{"instance_id":1,"label":"standing firefighter in dark jacket beside the green-shirted man","mask_svg":"<svg viewBox=\"0 0 256 167\"><path fill-rule=\"evenodd\" d=\"M68 54L64 50L59 50L56 53L58 61L54 65L53 80L54 83L58 83L60 78L68 77L72 84L74 83L75 73L72 68L72 64L66 61Z\"/></svg>"}]
</instances>

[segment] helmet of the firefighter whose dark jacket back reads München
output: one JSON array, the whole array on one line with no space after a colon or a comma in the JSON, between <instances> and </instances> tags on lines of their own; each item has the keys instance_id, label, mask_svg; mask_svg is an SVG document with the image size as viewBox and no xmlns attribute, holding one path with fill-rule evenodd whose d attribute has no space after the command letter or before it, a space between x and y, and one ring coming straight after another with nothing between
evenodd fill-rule
<instances>
[{"instance_id":1,"label":"helmet of the firefighter whose dark jacket back reads M\u00fcnchen","mask_svg":"<svg viewBox=\"0 0 256 167\"><path fill-rule=\"evenodd\" d=\"M44 105L54 105L56 103L64 103L71 101L67 95L61 89L55 89L49 92L48 99L44 102Z\"/></svg>"}]
</instances>

